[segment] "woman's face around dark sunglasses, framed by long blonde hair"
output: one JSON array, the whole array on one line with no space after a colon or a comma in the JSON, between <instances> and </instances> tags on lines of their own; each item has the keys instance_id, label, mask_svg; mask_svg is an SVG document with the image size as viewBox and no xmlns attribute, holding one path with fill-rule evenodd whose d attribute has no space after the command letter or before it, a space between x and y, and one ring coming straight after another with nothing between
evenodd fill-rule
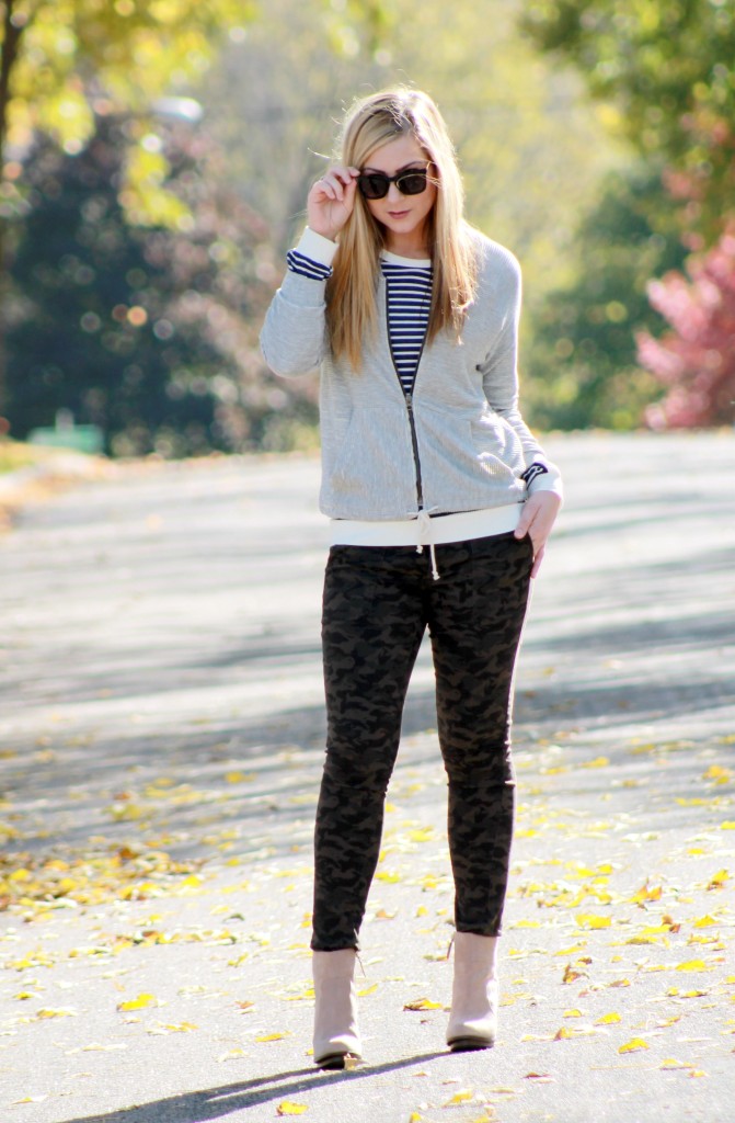
<instances>
[{"instance_id":1,"label":"woman's face around dark sunglasses, framed by long blonde hair","mask_svg":"<svg viewBox=\"0 0 735 1123\"><path fill-rule=\"evenodd\" d=\"M426 153L416 138L408 134L389 140L370 153L361 172L383 172L397 175L411 167L426 167ZM430 173L433 168L430 168ZM426 218L437 199L435 183L426 180L426 189L419 195L402 195L395 183L388 188L384 199L366 199L365 203L375 218L385 227L386 249L401 254L406 250L426 252Z\"/></svg>"}]
</instances>

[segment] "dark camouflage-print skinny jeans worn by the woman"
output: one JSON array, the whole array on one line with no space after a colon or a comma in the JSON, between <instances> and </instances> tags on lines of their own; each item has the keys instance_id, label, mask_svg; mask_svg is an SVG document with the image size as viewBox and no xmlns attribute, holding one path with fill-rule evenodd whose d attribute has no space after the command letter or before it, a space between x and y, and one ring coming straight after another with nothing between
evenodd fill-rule
<instances>
[{"instance_id":1,"label":"dark camouflage-print skinny jeans worn by the woman","mask_svg":"<svg viewBox=\"0 0 735 1123\"><path fill-rule=\"evenodd\" d=\"M497 935L508 878L515 777L513 670L525 615L530 538L494 535L428 549L333 546L322 646L327 759L316 809L312 948L357 948L378 860L401 719L425 628L449 778L454 923Z\"/></svg>"}]
</instances>

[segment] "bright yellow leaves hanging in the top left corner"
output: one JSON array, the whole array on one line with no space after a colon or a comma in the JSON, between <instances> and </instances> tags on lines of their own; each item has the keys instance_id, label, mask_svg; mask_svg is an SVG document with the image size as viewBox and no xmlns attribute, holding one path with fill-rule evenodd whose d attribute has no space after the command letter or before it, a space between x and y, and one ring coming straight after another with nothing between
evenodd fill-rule
<instances>
[{"instance_id":1,"label":"bright yellow leaves hanging in the top left corner","mask_svg":"<svg viewBox=\"0 0 735 1123\"><path fill-rule=\"evenodd\" d=\"M120 191L138 221L185 221L163 186L165 161L141 147L151 106L201 76L220 35L254 15L241 0L0 0L0 304L7 303L9 222L25 212L22 164L35 135L79 154L95 112L138 120ZM0 322L0 410L4 357Z\"/></svg>"}]
</instances>

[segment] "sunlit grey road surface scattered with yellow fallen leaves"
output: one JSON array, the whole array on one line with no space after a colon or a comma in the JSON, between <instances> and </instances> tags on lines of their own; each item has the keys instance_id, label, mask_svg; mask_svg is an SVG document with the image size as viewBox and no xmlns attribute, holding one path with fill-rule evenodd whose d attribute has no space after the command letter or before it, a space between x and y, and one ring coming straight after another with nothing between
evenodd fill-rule
<instances>
[{"instance_id":1,"label":"sunlit grey road surface scattered with yellow fallen leaves","mask_svg":"<svg viewBox=\"0 0 735 1123\"><path fill-rule=\"evenodd\" d=\"M443 1044L422 654L364 930L366 1063L343 1075L309 1056L316 465L136 469L28 510L1 558L3 1117L729 1117L735 530L705 467L733 453L610 441L554 449L573 500L518 673L499 1041ZM687 495L661 484L673 455ZM601 509L614 458L636 471Z\"/></svg>"}]
</instances>

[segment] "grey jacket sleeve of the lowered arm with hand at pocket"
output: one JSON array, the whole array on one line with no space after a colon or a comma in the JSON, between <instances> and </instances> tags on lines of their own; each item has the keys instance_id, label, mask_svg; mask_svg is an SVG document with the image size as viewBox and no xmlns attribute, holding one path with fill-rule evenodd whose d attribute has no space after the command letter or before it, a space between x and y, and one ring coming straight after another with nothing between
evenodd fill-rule
<instances>
[{"instance_id":1,"label":"grey jacket sleeve of the lowered arm with hand at pocket","mask_svg":"<svg viewBox=\"0 0 735 1123\"><path fill-rule=\"evenodd\" d=\"M526 426L518 409L518 322L521 319L521 266L507 250L502 250L500 303L504 317L494 346L478 369L483 374L485 396L491 409L511 426L523 447L525 472L522 473L529 494L550 491L563 497L561 473Z\"/></svg>"}]
</instances>

